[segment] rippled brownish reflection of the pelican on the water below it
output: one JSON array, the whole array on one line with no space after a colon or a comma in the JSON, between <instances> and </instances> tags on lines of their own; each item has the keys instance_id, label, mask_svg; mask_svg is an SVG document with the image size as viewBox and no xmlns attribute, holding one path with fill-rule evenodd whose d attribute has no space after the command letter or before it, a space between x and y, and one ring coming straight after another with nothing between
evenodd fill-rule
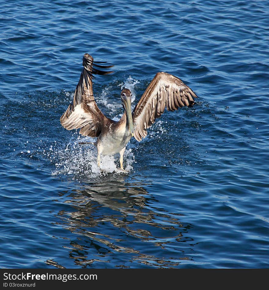
<instances>
[{"instance_id":1,"label":"rippled brownish reflection of the pelican on the water below it","mask_svg":"<svg viewBox=\"0 0 269 290\"><path fill-rule=\"evenodd\" d=\"M114 267L115 253L116 257L124 255L119 261L126 261L118 267L173 268L182 259L190 259L186 254L191 251L192 241L183 236L190 225L180 223L179 214L153 208L151 204L158 201L144 188L147 185L126 179L106 176L98 182L83 184L83 189L73 190L67 196L64 203L72 210L62 210L57 217L72 232L71 238L70 234L67 237L69 257L80 267L94 263L94 267L100 268ZM178 259L171 258L175 257L175 251ZM56 267L64 266L55 263L47 261Z\"/></svg>"}]
</instances>

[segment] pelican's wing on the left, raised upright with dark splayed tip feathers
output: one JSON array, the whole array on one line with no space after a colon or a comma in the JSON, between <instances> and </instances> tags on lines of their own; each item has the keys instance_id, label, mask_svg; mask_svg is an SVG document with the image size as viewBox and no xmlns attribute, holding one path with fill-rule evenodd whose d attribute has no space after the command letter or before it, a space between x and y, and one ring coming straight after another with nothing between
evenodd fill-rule
<instances>
[{"instance_id":1,"label":"pelican's wing on the left, raised upright with dark splayed tip feathers","mask_svg":"<svg viewBox=\"0 0 269 290\"><path fill-rule=\"evenodd\" d=\"M76 86L74 99L68 106L65 113L61 116L61 125L67 129L81 128L79 133L83 136L98 137L101 133L103 122L107 119L99 110L94 100L92 79L93 74L110 74L113 71L100 71L95 67L109 68L94 62L93 57L88 53L83 56L83 70L79 83Z\"/></svg>"}]
</instances>

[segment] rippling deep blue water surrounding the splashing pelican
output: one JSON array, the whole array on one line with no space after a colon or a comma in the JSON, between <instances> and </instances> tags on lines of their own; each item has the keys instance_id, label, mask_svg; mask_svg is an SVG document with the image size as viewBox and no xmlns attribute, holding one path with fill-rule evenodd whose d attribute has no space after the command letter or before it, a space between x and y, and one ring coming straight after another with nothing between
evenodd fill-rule
<instances>
[{"instance_id":1,"label":"rippling deep blue water surrounding the splashing pelican","mask_svg":"<svg viewBox=\"0 0 269 290\"><path fill-rule=\"evenodd\" d=\"M2 268L268 268L269 2L0 5ZM59 118L82 56L115 64L95 99L115 120L158 71L199 99L102 158Z\"/></svg>"}]
</instances>

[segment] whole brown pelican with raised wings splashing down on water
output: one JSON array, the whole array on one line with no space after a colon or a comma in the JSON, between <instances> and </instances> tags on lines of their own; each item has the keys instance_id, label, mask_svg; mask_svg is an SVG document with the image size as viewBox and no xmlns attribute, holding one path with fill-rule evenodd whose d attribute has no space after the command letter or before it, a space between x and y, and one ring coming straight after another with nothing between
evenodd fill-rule
<instances>
[{"instance_id":1,"label":"whole brown pelican with raised wings splashing down on water","mask_svg":"<svg viewBox=\"0 0 269 290\"><path fill-rule=\"evenodd\" d=\"M97 163L100 167L100 155L114 155L120 153L120 168L123 169L123 154L126 144L132 136L137 141L147 136L147 128L156 118L163 114L165 107L168 111L175 111L179 107L194 104L196 94L179 78L158 72L150 82L141 99L131 111L131 91L123 89L121 101L123 115L120 121L107 118L97 107L93 95L93 74L110 74L112 71L100 71L99 68L110 68L94 62L92 56L85 53L83 56L83 70L76 86L74 99L65 113L61 116L61 125L67 129L81 128L79 133L83 136L98 137L91 143L97 147Z\"/></svg>"}]
</instances>

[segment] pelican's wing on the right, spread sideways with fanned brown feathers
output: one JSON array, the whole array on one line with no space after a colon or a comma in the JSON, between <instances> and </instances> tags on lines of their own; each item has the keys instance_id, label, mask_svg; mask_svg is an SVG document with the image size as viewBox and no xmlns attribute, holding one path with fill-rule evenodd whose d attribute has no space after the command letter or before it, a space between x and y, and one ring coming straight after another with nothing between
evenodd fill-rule
<instances>
[{"instance_id":1,"label":"pelican's wing on the right, spread sideways with fanned brown feathers","mask_svg":"<svg viewBox=\"0 0 269 290\"><path fill-rule=\"evenodd\" d=\"M163 114L165 107L175 111L194 104L196 94L174 75L159 72L150 82L133 111L134 137L137 141L147 136L147 128Z\"/></svg>"}]
</instances>

